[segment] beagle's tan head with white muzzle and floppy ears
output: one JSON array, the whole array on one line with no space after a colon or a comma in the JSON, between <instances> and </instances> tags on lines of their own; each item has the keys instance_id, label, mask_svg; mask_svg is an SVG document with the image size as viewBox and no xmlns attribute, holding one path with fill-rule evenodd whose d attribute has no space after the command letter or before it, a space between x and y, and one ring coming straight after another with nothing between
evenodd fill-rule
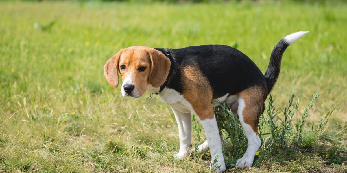
<instances>
[{"instance_id":1,"label":"beagle's tan head with white muzzle and floppy ears","mask_svg":"<svg viewBox=\"0 0 347 173\"><path fill-rule=\"evenodd\" d=\"M121 92L123 97L130 95L139 98L147 85L160 87L166 80L171 62L160 51L146 47L133 46L121 49L104 65L107 82L116 88L118 72L122 76Z\"/></svg>"}]
</instances>

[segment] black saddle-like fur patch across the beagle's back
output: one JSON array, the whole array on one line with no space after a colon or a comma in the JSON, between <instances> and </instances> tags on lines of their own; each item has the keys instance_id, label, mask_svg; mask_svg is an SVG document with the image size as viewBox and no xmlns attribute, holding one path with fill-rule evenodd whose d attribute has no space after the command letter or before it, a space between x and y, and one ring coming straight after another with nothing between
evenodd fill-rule
<instances>
[{"instance_id":1,"label":"black saddle-like fur patch across the beagle's back","mask_svg":"<svg viewBox=\"0 0 347 173\"><path fill-rule=\"evenodd\" d=\"M157 50L173 58L178 66L176 73L182 73L186 68L194 68L196 73L202 73L212 87L213 99L226 93L234 95L252 86L267 90L265 77L259 68L248 56L233 47L202 45ZM180 91L185 88L174 86L174 89Z\"/></svg>"}]
</instances>

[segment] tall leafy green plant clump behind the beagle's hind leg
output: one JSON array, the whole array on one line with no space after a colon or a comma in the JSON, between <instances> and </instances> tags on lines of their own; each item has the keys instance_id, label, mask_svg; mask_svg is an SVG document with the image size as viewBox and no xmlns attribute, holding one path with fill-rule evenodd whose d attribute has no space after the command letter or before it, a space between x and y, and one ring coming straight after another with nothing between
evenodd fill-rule
<instances>
[{"instance_id":1,"label":"tall leafy green plant clump behind the beagle's hind leg","mask_svg":"<svg viewBox=\"0 0 347 173\"><path fill-rule=\"evenodd\" d=\"M299 107L299 101L294 103L295 94L293 93L288 104L281 113L278 113L272 95L269 97L268 107L260 116L259 137L262 139L262 147L257 152L257 162L272 157L275 151L280 149L299 147L310 147L318 143L318 139L323 135L322 129L327 125L328 119L333 110L329 111L324 118L319 121L318 126L305 126L307 117L310 116L308 111L313 107L313 102L319 97L319 93L312 96L308 106L304 109L301 118L296 118L295 113ZM219 104L215 107L214 113L217 117L218 127L226 135L223 141L223 148L229 145L233 149L223 149L226 156L227 165L234 166L237 159L242 157L247 148L247 139L239 123L238 116L234 115L226 102L215 102Z\"/></svg>"}]
</instances>

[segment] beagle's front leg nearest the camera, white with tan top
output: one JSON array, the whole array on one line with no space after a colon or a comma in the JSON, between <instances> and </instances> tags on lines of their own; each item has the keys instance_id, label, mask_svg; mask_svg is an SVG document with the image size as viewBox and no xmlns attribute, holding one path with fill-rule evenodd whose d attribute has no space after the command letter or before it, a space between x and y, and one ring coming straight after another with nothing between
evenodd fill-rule
<instances>
[{"instance_id":1,"label":"beagle's front leg nearest the camera, white with tan top","mask_svg":"<svg viewBox=\"0 0 347 173\"><path fill-rule=\"evenodd\" d=\"M217 163L215 163L214 166L216 166L215 168L219 168L216 169L215 172L223 172L226 168L222 153L222 143L219 135L217 121L213 113L213 108L211 109L212 110L202 111L203 114L198 116L205 130L207 143L211 150L211 163L214 162L214 159L217 160ZM206 113L208 113L209 115L207 115ZM215 158L216 155L218 155L217 158Z\"/></svg>"}]
</instances>

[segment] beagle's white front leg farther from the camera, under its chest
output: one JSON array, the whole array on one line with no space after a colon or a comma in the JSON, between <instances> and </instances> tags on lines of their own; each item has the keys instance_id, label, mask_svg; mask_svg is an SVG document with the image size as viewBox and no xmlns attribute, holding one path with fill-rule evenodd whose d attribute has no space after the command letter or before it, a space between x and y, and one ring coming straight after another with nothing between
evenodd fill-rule
<instances>
[{"instance_id":1,"label":"beagle's white front leg farther from the camera, under its chest","mask_svg":"<svg viewBox=\"0 0 347 173\"><path fill-rule=\"evenodd\" d=\"M180 112L172 107L171 109L175 113L180 141L179 152L174 157L182 159L192 146L192 114Z\"/></svg>"}]
</instances>

